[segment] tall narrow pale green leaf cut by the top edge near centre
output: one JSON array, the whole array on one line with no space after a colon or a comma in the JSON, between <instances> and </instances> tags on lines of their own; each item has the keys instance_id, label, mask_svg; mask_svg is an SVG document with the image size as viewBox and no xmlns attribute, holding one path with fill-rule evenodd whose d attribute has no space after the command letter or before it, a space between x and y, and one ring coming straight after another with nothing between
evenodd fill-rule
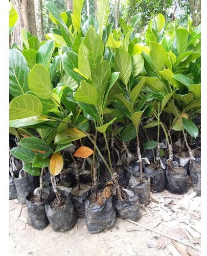
<instances>
[{"instance_id":1,"label":"tall narrow pale green leaf cut by the top edge near centre","mask_svg":"<svg viewBox=\"0 0 207 256\"><path fill-rule=\"evenodd\" d=\"M97 12L96 16L99 23L99 35L102 39L103 34L103 25L104 25L104 19L106 14L106 9L108 6L108 0L97 0Z\"/></svg>"}]
</instances>

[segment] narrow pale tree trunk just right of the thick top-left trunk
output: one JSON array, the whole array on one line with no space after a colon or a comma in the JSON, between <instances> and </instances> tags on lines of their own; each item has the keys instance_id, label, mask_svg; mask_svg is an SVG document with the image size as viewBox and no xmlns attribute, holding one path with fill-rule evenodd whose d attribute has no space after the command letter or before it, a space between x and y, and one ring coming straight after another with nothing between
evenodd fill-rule
<instances>
[{"instance_id":1,"label":"narrow pale tree trunk just right of the thick top-left trunk","mask_svg":"<svg viewBox=\"0 0 207 256\"><path fill-rule=\"evenodd\" d=\"M44 40L42 0L34 0L34 8L35 8L35 19L36 19L36 27L37 27L37 37L41 42Z\"/></svg>"}]
</instances>

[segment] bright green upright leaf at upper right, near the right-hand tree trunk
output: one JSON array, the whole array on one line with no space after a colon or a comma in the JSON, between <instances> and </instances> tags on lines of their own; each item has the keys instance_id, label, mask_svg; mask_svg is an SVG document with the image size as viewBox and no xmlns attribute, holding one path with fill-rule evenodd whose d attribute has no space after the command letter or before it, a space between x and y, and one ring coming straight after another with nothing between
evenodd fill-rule
<instances>
[{"instance_id":1,"label":"bright green upright leaf at upper right, near the right-hand tree trunk","mask_svg":"<svg viewBox=\"0 0 207 256\"><path fill-rule=\"evenodd\" d=\"M188 46L188 35L189 32L187 29L177 29L176 33L176 46L178 55L186 51Z\"/></svg>"}]
</instances>

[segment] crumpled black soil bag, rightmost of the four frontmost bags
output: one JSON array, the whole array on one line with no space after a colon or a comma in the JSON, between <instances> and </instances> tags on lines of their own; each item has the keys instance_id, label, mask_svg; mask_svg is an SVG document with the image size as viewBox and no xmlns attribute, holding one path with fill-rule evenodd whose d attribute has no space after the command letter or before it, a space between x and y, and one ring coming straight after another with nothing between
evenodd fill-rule
<instances>
[{"instance_id":1,"label":"crumpled black soil bag, rightmost of the four frontmost bags","mask_svg":"<svg viewBox=\"0 0 207 256\"><path fill-rule=\"evenodd\" d=\"M114 206L118 217L136 221L141 217L140 201L139 197L134 195L132 191L130 191L130 193L132 193L131 197L128 195L125 196L125 198L122 197L122 199L120 197L116 197Z\"/></svg>"}]
</instances>

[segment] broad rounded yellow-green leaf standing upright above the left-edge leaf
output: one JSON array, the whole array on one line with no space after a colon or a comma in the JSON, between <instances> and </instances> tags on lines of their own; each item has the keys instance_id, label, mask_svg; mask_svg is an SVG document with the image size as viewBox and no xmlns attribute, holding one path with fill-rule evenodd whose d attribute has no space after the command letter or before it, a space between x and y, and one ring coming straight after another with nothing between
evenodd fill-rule
<instances>
[{"instance_id":1,"label":"broad rounded yellow-green leaf standing upright above the left-edge leaf","mask_svg":"<svg viewBox=\"0 0 207 256\"><path fill-rule=\"evenodd\" d=\"M52 98L52 86L49 71L41 64L36 64L28 75L30 90L42 99Z\"/></svg>"}]
</instances>

